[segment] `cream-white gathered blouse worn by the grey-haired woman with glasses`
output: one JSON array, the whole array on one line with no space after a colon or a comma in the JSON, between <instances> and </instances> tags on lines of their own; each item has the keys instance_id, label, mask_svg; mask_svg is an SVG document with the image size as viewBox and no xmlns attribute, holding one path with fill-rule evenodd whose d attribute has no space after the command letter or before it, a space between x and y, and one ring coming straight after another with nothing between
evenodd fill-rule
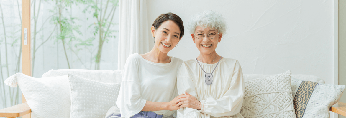
<instances>
[{"instance_id":1,"label":"cream-white gathered blouse worn by the grey-haired woman with glasses","mask_svg":"<svg viewBox=\"0 0 346 118\"><path fill-rule=\"evenodd\" d=\"M211 73L216 64L199 62L204 71ZM202 103L202 109L180 108L177 118L243 118L239 113L243 104L244 79L239 62L222 58L207 85L205 75L195 59L184 61L177 75L178 94L185 91Z\"/></svg>"}]
</instances>

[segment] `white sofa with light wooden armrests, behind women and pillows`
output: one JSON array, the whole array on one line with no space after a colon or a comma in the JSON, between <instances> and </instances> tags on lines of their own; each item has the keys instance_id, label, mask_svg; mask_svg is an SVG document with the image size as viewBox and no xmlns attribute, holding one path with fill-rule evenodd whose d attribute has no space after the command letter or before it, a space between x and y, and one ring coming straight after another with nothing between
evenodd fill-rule
<instances>
[{"instance_id":1,"label":"white sofa with light wooden armrests, behind women and pillows","mask_svg":"<svg viewBox=\"0 0 346 118\"><path fill-rule=\"evenodd\" d=\"M42 77L49 76L63 76L68 73L77 75L86 79L92 79L103 83L120 83L121 82L121 71L111 70L85 70L85 69L59 69L50 70L43 74ZM244 81L250 81L255 78L265 78L271 75L256 75L256 74L244 74ZM312 81L317 83L325 83L323 79L313 75L294 75L292 78L300 79L303 81ZM338 106L339 105L339 106ZM333 110L334 108L334 110ZM346 104L338 102L332 107L331 111L337 112L338 114L346 115ZM26 104L20 104L9 108L0 110L0 117L20 117L31 112L30 107Z\"/></svg>"}]
</instances>

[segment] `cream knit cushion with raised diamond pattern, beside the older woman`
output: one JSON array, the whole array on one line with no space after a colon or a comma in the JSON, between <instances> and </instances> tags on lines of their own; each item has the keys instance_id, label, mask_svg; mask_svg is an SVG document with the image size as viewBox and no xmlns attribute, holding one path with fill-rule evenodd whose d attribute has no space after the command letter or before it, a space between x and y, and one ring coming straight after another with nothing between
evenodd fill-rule
<instances>
[{"instance_id":1,"label":"cream knit cushion with raised diamond pattern, beside the older woman","mask_svg":"<svg viewBox=\"0 0 346 118\"><path fill-rule=\"evenodd\" d=\"M295 118L291 71L245 81L244 118Z\"/></svg>"}]
</instances>

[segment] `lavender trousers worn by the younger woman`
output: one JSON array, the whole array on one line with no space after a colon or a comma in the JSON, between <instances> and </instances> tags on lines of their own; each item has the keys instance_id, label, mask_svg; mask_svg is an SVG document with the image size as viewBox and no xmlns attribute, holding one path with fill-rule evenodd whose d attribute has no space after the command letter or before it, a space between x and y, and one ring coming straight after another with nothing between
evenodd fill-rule
<instances>
[{"instance_id":1,"label":"lavender trousers worn by the younger woman","mask_svg":"<svg viewBox=\"0 0 346 118\"><path fill-rule=\"evenodd\" d=\"M163 115L157 115L152 111L140 111L138 114L131 118L162 118ZM105 118L121 118L120 109L117 106L111 107L106 114Z\"/></svg>"}]
</instances>

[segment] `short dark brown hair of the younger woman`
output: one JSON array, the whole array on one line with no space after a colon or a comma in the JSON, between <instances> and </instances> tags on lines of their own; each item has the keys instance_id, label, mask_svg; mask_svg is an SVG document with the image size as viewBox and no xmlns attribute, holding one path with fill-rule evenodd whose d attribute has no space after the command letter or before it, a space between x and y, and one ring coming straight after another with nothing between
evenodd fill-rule
<instances>
[{"instance_id":1,"label":"short dark brown hair of the younger woman","mask_svg":"<svg viewBox=\"0 0 346 118\"><path fill-rule=\"evenodd\" d=\"M156 30L159 26L161 26L162 22L167 21L167 20L172 20L173 22L175 22L179 26L179 28L180 28L179 38L183 37L184 36L183 21L181 20L181 18L178 15L176 15L174 13L168 12L168 13L161 14L160 16L158 16L156 18L156 20L154 21L152 26L154 26L155 30Z\"/></svg>"}]
</instances>

